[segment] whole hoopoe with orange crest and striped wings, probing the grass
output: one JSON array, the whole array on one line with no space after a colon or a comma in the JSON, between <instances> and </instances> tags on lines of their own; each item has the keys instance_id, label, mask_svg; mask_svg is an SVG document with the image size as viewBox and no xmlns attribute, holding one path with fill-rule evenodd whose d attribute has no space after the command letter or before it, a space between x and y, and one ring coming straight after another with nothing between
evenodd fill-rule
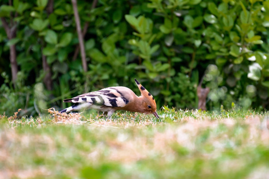
<instances>
[{"instance_id":1,"label":"whole hoopoe with orange crest and striped wings, probing the grass","mask_svg":"<svg viewBox=\"0 0 269 179\"><path fill-rule=\"evenodd\" d=\"M116 110L127 110L145 114L152 113L156 118L159 118L154 97L136 79L134 81L141 92L140 96L126 87L109 87L64 99L63 102L73 102L75 104L60 112L95 109L110 117Z\"/></svg>"}]
</instances>

